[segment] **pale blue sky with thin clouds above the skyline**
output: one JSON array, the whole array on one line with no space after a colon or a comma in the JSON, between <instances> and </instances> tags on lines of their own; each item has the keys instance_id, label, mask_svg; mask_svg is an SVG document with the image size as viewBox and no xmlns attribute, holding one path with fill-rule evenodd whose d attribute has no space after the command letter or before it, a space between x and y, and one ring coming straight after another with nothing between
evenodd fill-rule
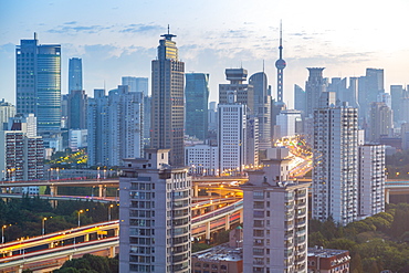
<instances>
[{"instance_id":1,"label":"pale blue sky with thin clouds above the skyline","mask_svg":"<svg viewBox=\"0 0 409 273\"><path fill-rule=\"evenodd\" d=\"M62 46L62 93L70 57L82 57L84 90L115 88L122 76L150 77L160 34L176 34L186 73L210 74L210 99L224 70L263 70L276 92L283 24L284 102L306 67L325 77L385 70L385 88L409 84L408 0L0 0L0 99L15 103L15 45L21 39ZM150 80L149 80L150 81Z\"/></svg>"}]
</instances>

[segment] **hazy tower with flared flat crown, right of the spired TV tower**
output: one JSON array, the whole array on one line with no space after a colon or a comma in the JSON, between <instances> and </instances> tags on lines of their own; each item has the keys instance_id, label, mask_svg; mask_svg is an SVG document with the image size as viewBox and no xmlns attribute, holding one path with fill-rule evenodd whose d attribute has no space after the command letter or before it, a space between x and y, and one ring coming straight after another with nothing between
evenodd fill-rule
<instances>
[{"instance_id":1,"label":"hazy tower with flared flat crown, right of the spired TV tower","mask_svg":"<svg viewBox=\"0 0 409 273\"><path fill-rule=\"evenodd\" d=\"M313 115L318 108L321 94L326 91L326 82L323 77L324 67L308 67L308 81L305 83L305 115Z\"/></svg>"}]
</instances>

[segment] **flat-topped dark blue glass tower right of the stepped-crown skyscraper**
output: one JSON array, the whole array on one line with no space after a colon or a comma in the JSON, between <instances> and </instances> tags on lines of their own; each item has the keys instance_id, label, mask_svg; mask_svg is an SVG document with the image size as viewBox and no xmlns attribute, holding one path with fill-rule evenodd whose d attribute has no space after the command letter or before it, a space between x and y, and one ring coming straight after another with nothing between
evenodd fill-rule
<instances>
[{"instance_id":1,"label":"flat-topped dark blue glass tower right of the stepped-crown skyscraper","mask_svg":"<svg viewBox=\"0 0 409 273\"><path fill-rule=\"evenodd\" d=\"M208 135L209 74L186 74L186 134L204 140Z\"/></svg>"}]
</instances>

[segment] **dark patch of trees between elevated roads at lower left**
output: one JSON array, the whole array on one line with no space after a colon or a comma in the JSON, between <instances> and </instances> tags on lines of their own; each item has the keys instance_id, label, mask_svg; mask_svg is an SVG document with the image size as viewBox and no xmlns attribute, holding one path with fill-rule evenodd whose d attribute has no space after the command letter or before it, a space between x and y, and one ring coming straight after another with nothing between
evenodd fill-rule
<instances>
[{"instance_id":1,"label":"dark patch of trees between elevated roads at lower left","mask_svg":"<svg viewBox=\"0 0 409 273\"><path fill-rule=\"evenodd\" d=\"M52 203L56 203L55 207ZM108 203L93 201L49 201L38 196L22 199L0 200L0 224L6 225L6 241L36 237L77 227L78 211L81 225L104 222L108 219ZM118 207L111 210L112 219L118 219ZM43 219L46 218L45 221ZM44 224L44 225L43 225Z\"/></svg>"}]
</instances>

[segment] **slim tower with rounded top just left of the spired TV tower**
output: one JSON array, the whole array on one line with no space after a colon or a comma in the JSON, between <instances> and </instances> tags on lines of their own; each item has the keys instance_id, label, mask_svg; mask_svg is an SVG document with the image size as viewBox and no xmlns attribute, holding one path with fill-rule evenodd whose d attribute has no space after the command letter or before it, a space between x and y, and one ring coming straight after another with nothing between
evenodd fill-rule
<instances>
[{"instance_id":1,"label":"slim tower with rounded top just left of the spired TV tower","mask_svg":"<svg viewBox=\"0 0 409 273\"><path fill-rule=\"evenodd\" d=\"M254 113L259 119L259 148L271 148L271 95L268 94L268 76L259 72L250 76L249 84L254 90Z\"/></svg>"}]
</instances>

